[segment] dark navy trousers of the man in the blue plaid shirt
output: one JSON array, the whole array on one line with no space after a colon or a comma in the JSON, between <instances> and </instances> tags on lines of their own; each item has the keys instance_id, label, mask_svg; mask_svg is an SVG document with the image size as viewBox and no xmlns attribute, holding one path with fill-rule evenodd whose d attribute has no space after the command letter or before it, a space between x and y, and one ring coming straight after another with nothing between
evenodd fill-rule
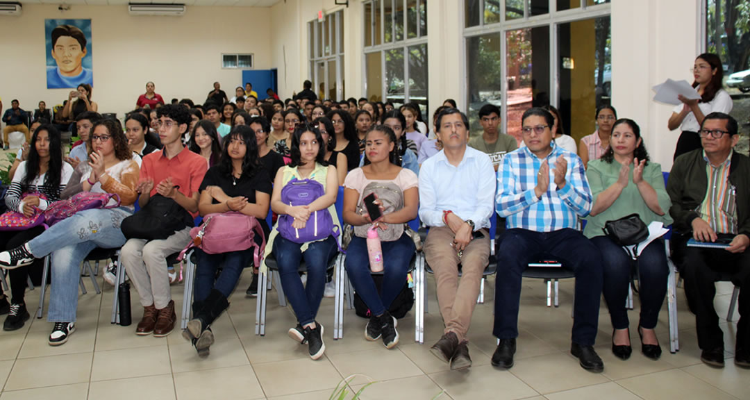
<instances>
[{"instance_id":1,"label":"dark navy trousers of the man in the blue plaid shirt","mask_svg":"<svg viewBox=\"0 0 750 400\"><path fill-rule=\"evenodd\" d=\"M521 273L529 263L545 256L573 270L572 341L582 346L594 345L602 287L601 253L583 234L570 228L552 232L520 228L505 231L497 251L493 335L501 339L518 336Z\"/></svg>"}]
</instances>

